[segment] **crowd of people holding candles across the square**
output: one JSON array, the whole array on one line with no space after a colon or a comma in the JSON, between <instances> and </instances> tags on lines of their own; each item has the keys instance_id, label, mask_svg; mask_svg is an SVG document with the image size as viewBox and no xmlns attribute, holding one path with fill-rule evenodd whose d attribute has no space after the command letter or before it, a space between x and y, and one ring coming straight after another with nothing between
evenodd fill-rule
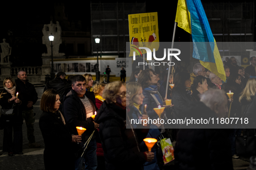
<instances>
[{"instance_id":1,"label":"crowd of people holding candles across the square","mask_svg":"<svg viewBox=\"0 0 256 170\"><path fill-rule=\"evenodd\" d=\"M252 65L254 59L256 57L250 59ZM153 69L134 69L127 82L104 83L101 79L95 83L91 74L66 80L65 72L58 72L56 78L45 85L41 99L39 127L45 143L45 169L81 170L84 163L85 170L162 170L164 164L158 148L155 145L148 151L143 141L158 139L160 135L175 141L177 169L233 169L232 158L239 157L235 138L244 132L254 135L255 131L250 128L237 125L233 129L220 129L214 125L207 129L200 124L196 128L183 128L182 124L131 123L132 119L139 122L149 118L250 117L256 107L255 72L237 66L233 57L224 69L225 82L200 63L194 65L191 73L180 71L169 77ZM106 71L109 74L109 67ZM26 79L19 77L20 74L17 82L26 84ZM109 76L107 79L109 81ZM14 113L3 126L3 149L8 154L22 153L23 116L20 113L28 112L37 100L36 95L29 94L34 98L28 98L22 90L16 95L21 88L17 82L6 78L3 98L0 98L0 105L4 109L13 108ZM167 84L174 87L168 86L165 91ZM232 99L227 96L229 91L234 93ZM171 99L172 104L166 104L166 99ZM154 111L159 105L165 107L161 117ZM79 127L86 129L84 133L78 134ZM52 152L58 153L58 157Z\"/></svg>"}]
</instances>

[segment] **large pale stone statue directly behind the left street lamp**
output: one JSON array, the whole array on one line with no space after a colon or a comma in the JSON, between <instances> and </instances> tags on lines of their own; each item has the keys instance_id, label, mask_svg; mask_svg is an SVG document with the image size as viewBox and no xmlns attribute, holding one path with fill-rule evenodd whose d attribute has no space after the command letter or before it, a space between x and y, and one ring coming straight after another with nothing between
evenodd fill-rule
<instances>
[{"instance_id":1,"label":"large pale stone statue directly behind the left street lamp","mask_svg":"<svg viewBox=\"0 0 256 170\"><path fill-rule=\"evenodd\" d=\"M44 28L42 29L43 37L42 37L42 44L45 44L47 47L47 54L43 53L42 56L64 56L65 53L59 53L59 45L62 44L62 28L57 21L56 24L53 24L52 21L50 24L45 24ZM52 49L51 49L51 41L49 41L49 35L54 36L54 41L52 41Z\"/></svg>"}]
</instances>

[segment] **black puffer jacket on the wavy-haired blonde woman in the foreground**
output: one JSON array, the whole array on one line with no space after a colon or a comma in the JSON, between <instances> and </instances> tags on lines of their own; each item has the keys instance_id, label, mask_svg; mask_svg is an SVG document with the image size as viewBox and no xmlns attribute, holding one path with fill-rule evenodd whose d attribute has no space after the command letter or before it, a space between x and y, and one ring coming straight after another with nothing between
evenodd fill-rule
<instances>
[{"instance_id":1,"label":"black puffer jacket on the wavy-haired blonde woman in the foreground","mask_svg":"<svg viewBox=\"0 0 256 170\"><path fill-rule=\"evenodd\" d=\"M137 136L143 138L143 135L136 135L132 129L126 128L126 109L104 101L95 122L100 124L106 170L142 170L146 157L139 151L138 142L141 140Z\"/></svg>"}]
</instances>

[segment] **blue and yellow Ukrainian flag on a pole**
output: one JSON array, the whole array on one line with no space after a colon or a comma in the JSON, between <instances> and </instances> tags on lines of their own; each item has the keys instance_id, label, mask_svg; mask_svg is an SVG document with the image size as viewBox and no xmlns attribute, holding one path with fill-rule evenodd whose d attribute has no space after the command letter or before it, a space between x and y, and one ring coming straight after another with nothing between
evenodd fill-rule
<instances>
[{"instance_id":1,"label":"blue and yellow Ukrainian flag on a pole","mask_svg":"<svg viewBox=\"0 0 256 170\"><path fill-rule=\"evenodd\" d=\"M192 36L193 57L224 82L223 62L200 0L178 0L175 22Z\"/></svg>"}]
</instances>

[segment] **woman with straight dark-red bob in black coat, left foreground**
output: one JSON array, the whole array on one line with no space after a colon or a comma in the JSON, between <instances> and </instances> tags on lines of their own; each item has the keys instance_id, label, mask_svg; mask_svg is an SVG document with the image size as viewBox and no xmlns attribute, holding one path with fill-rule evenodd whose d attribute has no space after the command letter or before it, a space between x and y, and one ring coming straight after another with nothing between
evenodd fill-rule
<instances>
[{"instance_id":1,"label":"woman with straight dark-red bob in black coat, left foreground","mask_svg":"<svg viewBox=\"0 0 256 170\"><path fill-rule=\"evenodd\" d=\"M75 153L72 142L81 142L81 135L71 135L66 127L65 119L58 110L60 101L58 93L48 89L42 94L39 128L45 143L45 170L75 169ZM75 144L76 145L76 144Z\"/></svg>"}]
</instances>

